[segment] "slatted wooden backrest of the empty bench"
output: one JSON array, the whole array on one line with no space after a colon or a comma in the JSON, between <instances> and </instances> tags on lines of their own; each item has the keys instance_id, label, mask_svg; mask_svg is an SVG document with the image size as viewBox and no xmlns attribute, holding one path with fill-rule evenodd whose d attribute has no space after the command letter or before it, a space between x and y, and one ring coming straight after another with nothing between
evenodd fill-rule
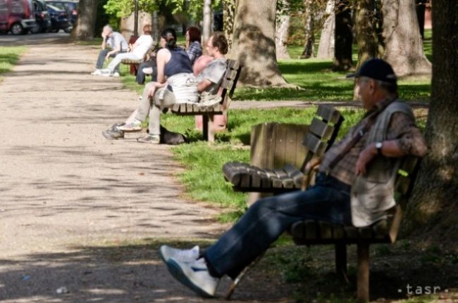
<instances>
[{"instance_id":1,"label":"slatted wooden backrest of the empty bench","mask_svg":"<svg viewBox=\"0 0 458 303\"><path fill-rule=\"evenodd\" d=\"M312 157L321 157L333 145L343 121L343 116L335 108L318 105L316 117L311 121L304 138L303 144L307 148L307 155L301 170L304 170Z\"/></svg>"}]
</instances>

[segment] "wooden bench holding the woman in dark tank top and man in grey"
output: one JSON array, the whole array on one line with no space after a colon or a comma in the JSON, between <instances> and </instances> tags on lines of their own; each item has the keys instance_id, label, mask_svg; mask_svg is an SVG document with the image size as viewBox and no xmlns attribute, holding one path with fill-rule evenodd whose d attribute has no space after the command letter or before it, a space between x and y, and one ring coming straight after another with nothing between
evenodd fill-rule
<instances>
[{"instance_id":1,"label":"wooden bench holding the woman in dark tank top and man in grey","mask_svg":"<svg viewBox=\"0 0 458 303\"><path fill-rule=\"evenodd\" d=\"M228 110L230 97L232 97L234 94L235 86L237 84L241 69L242 67L238 61L228 59L228 67L224 73L223 79L221 80L218 93L221 96L220 103L211 106L177 103L173 105L171 112L173 112L175 115L181 116L202 115L204 121L204 140L209 142L215 141L213 117L215 115L223 115L223 113Z\"/></svg>"}]
</instances>

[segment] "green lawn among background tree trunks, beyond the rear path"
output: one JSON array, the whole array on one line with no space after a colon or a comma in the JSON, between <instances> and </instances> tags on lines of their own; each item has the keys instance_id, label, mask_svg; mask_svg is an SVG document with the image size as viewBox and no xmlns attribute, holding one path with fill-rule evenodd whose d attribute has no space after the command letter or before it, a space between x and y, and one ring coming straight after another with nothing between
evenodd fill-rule
<instances>
[{"instance_id":1,"label":"green lawn among background tree trunks, beyond the rear path","mask_svg":"<svg viewBox=\"0 0 458 303\"><path fill-rule=\"evenodd\" d=\"M318 39L316 39L318 41ZM353 82L345 79L347 72L334 72L332 60L316 58L299 59L304 46L288 46L291 59L280 60L278 65L283 77L297 89L253 89L242 88L235 91L235 100L253 101L349 101L353 99ZM432 32L425 31L423 49L426 57L432 60ZM315 51L318 44L315 45ZM353 60L357 61L357 46L353 46ZM400 79L400 97L408 101L429 101L431 77L409 77Z\"/></svg>"}]
</instances>

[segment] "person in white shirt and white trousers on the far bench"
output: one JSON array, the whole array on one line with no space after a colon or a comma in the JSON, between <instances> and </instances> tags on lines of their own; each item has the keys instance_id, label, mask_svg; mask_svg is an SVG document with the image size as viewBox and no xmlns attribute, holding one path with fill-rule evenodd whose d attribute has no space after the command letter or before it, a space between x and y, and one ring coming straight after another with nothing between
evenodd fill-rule
<instances>
[{"instance_id":1,"label":"person in white shirt and white trousers on the far bench","mask_svg":"<svg viewBox=\"0 0 458 303\"><path fill-rule=\"evenodd\" d=\"M129 53L120 53L116 55L116 57L111 61L108 67L104 70L101 70L101 75L103 76L113 76L113 72L116 67L119 65L121 60L129 59L129 60L141 60L143 59L144 55L153 45L153 38L151 37L151 25L147 24L143 27L142 36L140 36L135 44L133 44L132 49L130 49Z\"/></svg>"}]
</instances>

